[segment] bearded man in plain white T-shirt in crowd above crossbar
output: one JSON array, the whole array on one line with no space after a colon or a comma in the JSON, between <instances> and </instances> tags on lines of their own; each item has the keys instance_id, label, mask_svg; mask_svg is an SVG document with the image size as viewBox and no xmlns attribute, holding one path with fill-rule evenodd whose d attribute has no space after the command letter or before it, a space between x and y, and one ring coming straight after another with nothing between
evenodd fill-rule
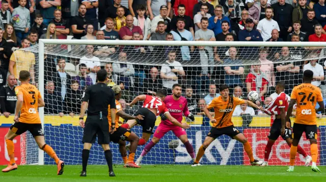
<instances>
[{"instance_id":1,"label":"bearded man in plain white T-shirt in crowd above crossbar","mask_svg":"<svg viewBox=\"0 0 326 182\"><path fill-rule=\"evenodd\" d=\"M263 41L267 41L271 37L271 31L277 29L280 31L279 24L271 19L273 16L273 8L266 7L265 9L265 18L260 20L257 25L257 30L261 33Z\"/></svg>"}]
</instances>

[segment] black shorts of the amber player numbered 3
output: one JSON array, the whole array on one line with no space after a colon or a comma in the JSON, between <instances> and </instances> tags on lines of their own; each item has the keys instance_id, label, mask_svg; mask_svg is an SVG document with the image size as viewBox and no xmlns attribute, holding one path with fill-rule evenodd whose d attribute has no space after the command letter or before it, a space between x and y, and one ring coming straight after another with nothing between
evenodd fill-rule
<instances>
[{"instance_id":1,"label":"black shorts of the amber player numbered 3","mask_svg":"<svg viewBox=\"0 0 326 182\"><path fill-rule=\"evenodd\" d=\"M26 131L30 131L34 137L44 136L42 124L29 124L17 122L11 125L10 130L17 135L21 135Z\"/></svg>"}]
</instances>

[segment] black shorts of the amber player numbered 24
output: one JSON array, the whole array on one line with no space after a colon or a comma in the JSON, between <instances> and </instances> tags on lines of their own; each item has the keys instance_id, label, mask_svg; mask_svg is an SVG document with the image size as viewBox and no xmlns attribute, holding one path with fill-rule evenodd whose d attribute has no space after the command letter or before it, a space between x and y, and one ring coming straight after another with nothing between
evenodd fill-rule
<instances>
[{"instance_id":1,"label":"black shorts of the amber player numbered 24","mask_svg":"<svg viewBox=\"0 0 326 182\"><path fill-rule=\"evenodd\" d=\"M303 132L307 139L317 139L317 125L293 124L292 138L300 140Z\"/></svg>"}]
</instances>

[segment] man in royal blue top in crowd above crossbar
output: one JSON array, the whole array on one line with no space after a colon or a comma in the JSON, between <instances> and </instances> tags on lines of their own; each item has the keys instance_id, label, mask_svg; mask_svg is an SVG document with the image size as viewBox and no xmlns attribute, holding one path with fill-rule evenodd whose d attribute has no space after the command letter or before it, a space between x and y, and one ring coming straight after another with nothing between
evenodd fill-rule
<instances>
[{"instance_id":1,"label":"man in royal blue top in crowd above crossbar","mask_svg":"<svg viewBox=\"0 0 326 182\"><path fill-rule=\"evenodd\" d=\"M215 7L214 13L215 13L215 16L212 16L208 19L208 27L207 28L210 30L213 30L214 34L216 36L222 32L222 22L224 20L228 21L229 25L231 23L230 23L230 19L223 15L223 7L221 5L218 5ZM231 26L230 26L229 32L231 32L231 31L232 30L231 30Z\"/></svg>"}]
</instances>

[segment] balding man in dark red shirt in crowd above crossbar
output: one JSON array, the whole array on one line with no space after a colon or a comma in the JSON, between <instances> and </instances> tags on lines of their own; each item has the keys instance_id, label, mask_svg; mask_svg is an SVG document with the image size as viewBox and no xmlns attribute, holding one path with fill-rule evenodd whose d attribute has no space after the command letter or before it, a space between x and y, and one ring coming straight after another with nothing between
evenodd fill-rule
<instances>
[{"instance_id":1,"label":"balding man in dark red shirt in crowd above crossbar","mask_svg":"<svg viewBox=\"0 0 326 182\"><path fill-rule=\"evenodd\" d=\"M126 17L126 26L123 26L119 30L119 36L122 40L132 40L132 34L138 32L141 35L141 40L143 40L144 35L141 27L133 25L132 15Z\"/></svg>"}]
</instances>

